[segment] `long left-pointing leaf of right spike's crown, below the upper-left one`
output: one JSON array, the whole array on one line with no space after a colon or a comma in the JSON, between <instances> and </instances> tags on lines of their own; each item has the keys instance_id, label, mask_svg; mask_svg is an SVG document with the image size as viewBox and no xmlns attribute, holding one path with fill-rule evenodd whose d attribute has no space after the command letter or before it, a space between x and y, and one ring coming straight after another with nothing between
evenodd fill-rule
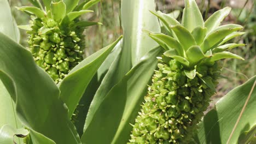
<instances>
[{"instance_id":1,"label":"long left-pointing leaf of right spike's crown, below the upper-left one","mask_svg":"<svg viewBox=\"0 0 256 144\"><path fill-rule=\"evenodd\" d=\"M179 56L184 56L184 50L181 44L179 44L179 41L175 40L169 35L162 33L149 33L149 37L154 39L165 50L175 49L178 52Z\"/></svg>"}]
</instances>

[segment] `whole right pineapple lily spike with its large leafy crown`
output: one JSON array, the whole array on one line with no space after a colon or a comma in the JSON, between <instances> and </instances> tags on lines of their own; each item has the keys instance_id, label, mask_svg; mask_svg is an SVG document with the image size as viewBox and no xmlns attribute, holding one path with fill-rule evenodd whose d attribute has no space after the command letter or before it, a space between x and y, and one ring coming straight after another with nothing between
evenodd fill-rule
<instances>
[{"instance_id":1,"label":"whole right pineapple lily spike with its large leafy crown","mask_svg":"<svg viewBox=\"0 0 256 144\"><path fill-rule=\"evenodd\" d=\"M151 11L167 29L168 35L148 32L165 49L158 70L144 97L141 112L132 128L129 143L189 143L220 75L219 59L243 59L227 52L244 44L225 44L244 34L242 26L219 26L231 8L216 11L205 22L194 0L185 0L182 23Z\"/></svg>"}]
</instances>

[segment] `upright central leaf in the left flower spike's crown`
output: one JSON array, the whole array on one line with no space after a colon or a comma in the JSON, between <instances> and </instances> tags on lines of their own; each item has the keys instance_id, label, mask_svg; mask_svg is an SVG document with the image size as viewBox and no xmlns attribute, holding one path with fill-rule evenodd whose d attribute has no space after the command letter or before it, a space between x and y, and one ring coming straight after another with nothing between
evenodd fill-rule
<instances>
[{"instance_id":1,"label":"upright central leaf in the left flower spike's crown","mask_svg":"<svg viewBox=\"0 0 256 144\"><path fill-rule=\"evenodd\" d=\"M54 20L60 22L66 14L66 4L63 1L52 2L50 8Z\"/></svg>"}]
</instances>

